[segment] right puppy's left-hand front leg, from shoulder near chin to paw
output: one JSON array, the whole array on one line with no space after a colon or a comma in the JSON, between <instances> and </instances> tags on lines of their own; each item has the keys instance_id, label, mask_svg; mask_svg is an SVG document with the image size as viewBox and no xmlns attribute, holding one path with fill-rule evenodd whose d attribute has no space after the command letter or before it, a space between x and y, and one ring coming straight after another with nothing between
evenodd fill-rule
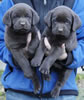
<instances>
[{"instance_id":1,"label":"right puppy's left-hand front leg, from shoulder near chin to paw","mask_svg":"<svg viewBox=\"0 0 84 100\"><path fill-rule=\"evenodd\" d=\"M46 27L43 34L42 34L43 38L41 39L39 47L36 50L35 56L31 61L31 65L34 66L34 67L41 65L42 59L44 57L44 53L46 51L46 47L45 47L45 44L44 44L44 37L47 35L47 33L49 31L50 31L49 28Z\"/></svg>"}]
</instances>

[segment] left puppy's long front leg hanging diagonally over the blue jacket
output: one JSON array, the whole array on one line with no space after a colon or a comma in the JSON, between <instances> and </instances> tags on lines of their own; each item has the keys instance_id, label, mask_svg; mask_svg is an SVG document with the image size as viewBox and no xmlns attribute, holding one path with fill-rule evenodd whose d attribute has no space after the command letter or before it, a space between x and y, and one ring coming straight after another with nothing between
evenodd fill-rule
<instances>
[{"instance_id":1,"label":"left puppy's long front leg hanging diagonally over the blue jacket","mask_svg":"<svg viewBox=\"0 0 84 100\"><path fill-rule=\"evenodd\" d=\"M18 65L21 67L22 71L24 72L24 76L27 78L33 77L33 71L31 69L29 61L23 54L22 49L10 49L14 59L17 61Z\"/></svg>"}]
</instances>

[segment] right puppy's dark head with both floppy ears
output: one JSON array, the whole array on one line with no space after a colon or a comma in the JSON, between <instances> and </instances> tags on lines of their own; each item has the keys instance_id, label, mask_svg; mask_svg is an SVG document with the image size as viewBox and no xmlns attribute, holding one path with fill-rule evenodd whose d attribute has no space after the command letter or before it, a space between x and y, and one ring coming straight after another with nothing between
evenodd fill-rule
<instances>
[{"instance_id":1,"label":"right puppy's dark head with both floppy ears","mask_svg":"<svg viewBox=\"0 0 84 100\"><path fill-rule=\"evenodd\" d=\"M44 18L45 23L52 30L53 35L68 38L72 31L76 31L81 21L77 14L66 6L59 6L51 10Z\"/></svg>"}]
</instances>

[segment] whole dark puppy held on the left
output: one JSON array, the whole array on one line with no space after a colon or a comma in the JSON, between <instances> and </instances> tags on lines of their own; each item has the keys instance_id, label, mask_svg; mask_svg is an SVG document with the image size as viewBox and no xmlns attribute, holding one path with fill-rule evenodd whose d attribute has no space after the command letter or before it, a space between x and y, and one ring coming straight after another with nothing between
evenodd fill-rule
<instances>
[{"instance_id":1,"label":"whole dark puppy held on the left","mask_svg":"<svg viewBox=\"0 0 84 100\"><path fill-rule=\"evenodd\" d=\"M32 79L35 93L40 89L40 83L29 60L32 59L39 44L39 22L37 13L27 4L18 3L4 15L6 25L5 43L13 58L24 72L24 76ZM39 34L40 35L40 34Z\"/></svg>"}]
</instances>

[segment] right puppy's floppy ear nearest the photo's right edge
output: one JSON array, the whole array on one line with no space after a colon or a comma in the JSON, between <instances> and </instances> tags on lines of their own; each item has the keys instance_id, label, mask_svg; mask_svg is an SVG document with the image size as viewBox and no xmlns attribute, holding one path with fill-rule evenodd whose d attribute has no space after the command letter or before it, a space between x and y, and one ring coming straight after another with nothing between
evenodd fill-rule
<instances>
[{"instance_id":1,"label":"right puppy's floppy ear nearest the photo's right edge","mask_svg":"<svg viewBox=\"0 0 84 100\"><path fill-rule=\"evenodd\" d=\"M73 12L72 31L76 31L81 26L81 20L77 14Z\"/></svg>"}]
</instances>

